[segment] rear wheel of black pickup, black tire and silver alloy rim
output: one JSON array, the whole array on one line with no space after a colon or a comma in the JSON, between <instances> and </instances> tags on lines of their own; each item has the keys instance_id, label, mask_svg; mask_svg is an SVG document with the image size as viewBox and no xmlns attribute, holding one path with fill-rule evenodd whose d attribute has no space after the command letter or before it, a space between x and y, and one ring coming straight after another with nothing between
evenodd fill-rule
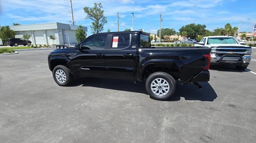
<instances>
[{"instance_id":1,"label":"rear wheel of black pickup, black tire and silver alloy rim","mask_svg":"<svg viewBox=\"0 0 256 143\"><path fill-rule=\"evenodd\" d=\"M146 91L150 98L156 100L167 100L175 92L174 78L165 72L155 72L151 74L146 81Z\"/></svg>"}]
</instances>

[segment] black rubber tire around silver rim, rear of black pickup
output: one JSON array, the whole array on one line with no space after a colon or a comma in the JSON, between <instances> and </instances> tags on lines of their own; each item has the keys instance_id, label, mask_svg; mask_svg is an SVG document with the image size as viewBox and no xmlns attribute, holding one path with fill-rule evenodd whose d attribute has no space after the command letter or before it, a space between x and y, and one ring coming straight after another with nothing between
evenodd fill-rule
<instances>
[{"instance_id":1,"label":"black rubber tire around silver rim, rear of black pickup","mask_svg":"<svg viewBox=\"0 0 256 143\"><path fill-rule=\"evenodd\" d=\"M168 82L169 90L168 92L165 92L164 90L164 92L166 93L165 95L156 95L159 93L160 90L158 90L158 93L156 94L151 90L151 84L156 78L162 78L166 80L166 82ZM150 95L150 98L153 98L156 100L168 100L174 95L175 88L176 88L176 83L174 78L170 74L167 74L166 72L154 72L146 80L146 91ZM161 92L163 92L163 90L161 90Z\"/></svg>"}]
</instances>

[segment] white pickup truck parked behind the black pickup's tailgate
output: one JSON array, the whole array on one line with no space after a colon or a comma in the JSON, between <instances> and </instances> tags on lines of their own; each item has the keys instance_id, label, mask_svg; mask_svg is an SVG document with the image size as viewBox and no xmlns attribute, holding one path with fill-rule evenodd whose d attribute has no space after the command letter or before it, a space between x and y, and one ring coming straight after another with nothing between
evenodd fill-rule
<instances>
[{"instance_id":1,"label":"white pickup truck parked behind the black pickup's tailgate","mask_svg":"<svg viewBox=\"0 0 256 143\"><path fill-rule=\"evenodd\" d=\"M248 67L252 47L243 45L232 36L207 36L194 46L206 46L211 50L211 64L234 65L237 70L244 70Z\"/></svg>"}]
</instances>

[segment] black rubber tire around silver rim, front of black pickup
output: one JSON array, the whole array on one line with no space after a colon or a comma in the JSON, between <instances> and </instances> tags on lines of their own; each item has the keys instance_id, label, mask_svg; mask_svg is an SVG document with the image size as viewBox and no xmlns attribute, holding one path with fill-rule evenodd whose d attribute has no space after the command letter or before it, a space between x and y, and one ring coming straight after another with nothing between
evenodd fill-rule
<instances>
[{"instance_id":1,"label":"black rubber tire around silver rim, front of black pickup","mask_svg":"<svg viewBox=\"0 0 256 143\"><path fill-rule=\"evenodd\" d=\"M59 81L57 80L56 76L55 76L56 71L58 71L58 70L62 70L62 71L64 71L64 73L66 74L66 80L65 80L63 83L62 83L62 82L59 82ZM56 82L58 85L60 85L60 86L68 86L68 85L72 82L72 80L73 80L73 76L72 76L72 74L71 74L71 72L70 72L70 69L68 69L67 67L65 67L65 66L63 66L63 65L58 65L58 66L54 67L54 69L53 69L53 71L52 71L52 76L53 76L55 82Z\"/></svg>"}]
</instances>

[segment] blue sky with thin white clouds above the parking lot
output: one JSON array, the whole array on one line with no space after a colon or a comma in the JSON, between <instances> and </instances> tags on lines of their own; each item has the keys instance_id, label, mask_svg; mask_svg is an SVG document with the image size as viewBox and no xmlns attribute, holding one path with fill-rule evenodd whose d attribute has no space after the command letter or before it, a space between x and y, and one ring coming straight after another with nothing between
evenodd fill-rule
<instances>
[{"instance_id":1,"label":"blue sky with thin white clouds above the parking lot","mask_svg":"<svg viewBox=\"0 0 256 143\"><path fill-rule=\"evenodd\" d=\"M160 13L162 27L176 31L190 23L205 24L206 29L212 31L224 27L226 23L238 27L240 21L240 31L252 31L253 21L256 21L256 0L72 0L75 24L87 26L88 35L91 35L92 21L84 19L83 7L92 7L94 2L102 3L107 16L108 24L104 26L104 31L117 31L117 12L120 31L132 27L131 12L134 12L135 29L149 29L150 33L156 33L160 28ZM69 6L69 0L0 0L0 25L71 24Z\"/></svg>"}]
</instances>

